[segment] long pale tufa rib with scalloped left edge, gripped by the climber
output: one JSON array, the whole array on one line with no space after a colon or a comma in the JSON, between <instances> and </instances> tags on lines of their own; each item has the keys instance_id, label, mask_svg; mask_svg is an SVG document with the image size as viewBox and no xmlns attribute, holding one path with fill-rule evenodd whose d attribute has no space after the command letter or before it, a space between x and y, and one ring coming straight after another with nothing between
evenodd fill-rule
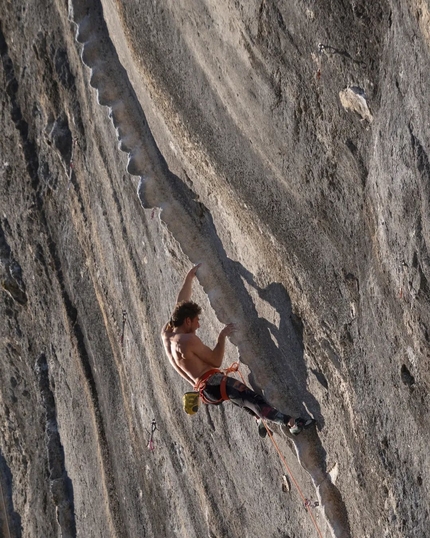
<instances>
[{"instance_id":1,"label":"long pale tufa rib with scalloped left edge, gripped by the climber","mask_svg":"<svg viewBox=\"0 0 430 538\"><path fill-rule=\"evenodd\" d=\"M240 272L245 270L227 257L207 208L169 171L108 36L100 3L72 0L69 10L77 26L76 40L82 44L82 60L91 70L90 84L97 90L98 102L109 107L119 149L128 153L127 171L140 177L137 194L142 207L160 207L162 221L184 253L192 262L205 260L209 271L201 271L201 284L220 321L248 327L242 339L232 338L232 341L238 346L242 360L252 362L262 354L263 348L258 341L260 335L256 336L259 332L252 330L258 324L258 315L240 278ZM263 371L261 374L259 379L267 376ZM324 470L324 450L316 434L315 437L312 442L308 436L296 441L298 458L314 481L333 536L348 538L346 508L339 490Z\"/></svg>"}]
</instances>

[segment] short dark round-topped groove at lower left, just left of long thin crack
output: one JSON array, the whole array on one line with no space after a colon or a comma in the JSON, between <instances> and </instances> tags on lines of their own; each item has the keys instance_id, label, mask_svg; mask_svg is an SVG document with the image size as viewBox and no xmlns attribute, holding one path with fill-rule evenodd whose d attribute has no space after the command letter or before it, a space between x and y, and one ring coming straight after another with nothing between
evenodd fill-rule
<instances>
[{"instance_id":1,"label":"short dark round-topped groove at lower left, just left of long thin crack","mask_svg":"<svg viewBox=\"0 0 430 538\"><path fill-rule=\"evenodd\" d=\"M48 362L43 353L37 359L35 369L45 409L46 451L52 500L56 506L61 536L63 538L74 538L76 537L76 524L73 485L65 468L64 450L58 431L55 398L49 384Z\"/></svg>"}]
</instances>

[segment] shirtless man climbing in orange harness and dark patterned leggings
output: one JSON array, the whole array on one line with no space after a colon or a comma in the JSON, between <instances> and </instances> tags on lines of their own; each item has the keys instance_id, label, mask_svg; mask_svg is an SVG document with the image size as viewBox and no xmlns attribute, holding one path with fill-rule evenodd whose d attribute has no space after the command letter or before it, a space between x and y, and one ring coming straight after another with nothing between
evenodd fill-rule
<instances>
[{"instance_id":1,"label":"shirtless man climbing in orange harness and dark patterned leggings","mask_svg":"<svg viewBox=\"0 0 430 538\"><path fill-rule=\"evenodd\" d=\"M225 340L236 331L234 324L230 323L221 330L213 349L203 344L196 336L196 331L200 327L201 308L191 301L191 292L192 282L200 265L200 263L195 265L185 277L173 314L161 332L170 363L178 374L200 393L205 403L217 405L230 400L254 415L261 437L266 436L263 419L288 426L292 434L299 434L315 421L293 419L281 413L269 405L260 394L240 381L228 377L219 369L224 357Z\"/></svg>"}]
</instances>

